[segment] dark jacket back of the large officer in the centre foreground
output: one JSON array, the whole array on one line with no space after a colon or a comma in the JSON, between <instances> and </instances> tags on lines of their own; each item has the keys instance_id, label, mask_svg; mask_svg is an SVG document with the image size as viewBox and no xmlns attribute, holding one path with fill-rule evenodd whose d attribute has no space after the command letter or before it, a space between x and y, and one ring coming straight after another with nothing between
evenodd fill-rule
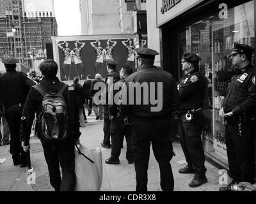
<instances>
[{"instance_id":1,"label":"dark jacket back of the large officer in the centre foreground","mask_svg":"<svg viewBox=\"0 0 256 204\"><path fill-rule=\"evenodd\" d=\"M141 89L140 99L141 104L136 105L136 96L138 96L138 92L135 91L133 87L129 86L129 83L139 84L147 84L150 87L150 82L154 83L162 83L163 84L163 98L159 98L157 110L152 108L156 108L157 105L150 103L149 98L153 98L150 96L147 101L144 101L143 96L144 90ZM127 92L124 94L126 98L122 100L129 102L129 90L134 89L134 105L121 105L121 113L123 115L130 115L131 117L138 118L148 118L148 117L171 117L172 112L175 112L179 108L179 92L177 90L177 85L175 84L175 80L172 75L163 69L157 68L156 66L142 66L139 71L133 73L130 77L127 78L125 82L127 86ZM157 98L157 84L155 84L155 93L152 90L149 91L149 94L154 93L155 98ZM159 86L161 89L161 84ZM158 93L160 94L160 93ZM161 108L161 103L163 107ZM160 109L160 110L158 110ZM153 111L154 110L154 111Z\"/></svg>"}]
</instances>

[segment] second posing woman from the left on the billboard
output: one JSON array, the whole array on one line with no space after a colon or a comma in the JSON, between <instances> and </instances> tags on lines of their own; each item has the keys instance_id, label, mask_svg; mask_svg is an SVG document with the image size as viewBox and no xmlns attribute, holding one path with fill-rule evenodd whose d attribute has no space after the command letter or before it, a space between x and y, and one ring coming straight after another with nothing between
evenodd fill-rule
<instances>
[{"instance_id":1,"label":"second posing woman from the left on the billboard","mask_svg":"<svg viewBox=\"0 0 256 204\"><path fill-rule=\"evenodd\" d=\"M76 66L77 77L80 79L83 79L83 75L84 75L84 63L81 60L82 49L83 49L84 45L85 45L85 43L80 43L79 41L76 41L75 48L74 48L74 50L72 50L73 55L74 55L74 64ZM79 70L79 67L81 70ZM69 75L69 77L70 77L70 75Z\"/></svg>"}]
</instances>

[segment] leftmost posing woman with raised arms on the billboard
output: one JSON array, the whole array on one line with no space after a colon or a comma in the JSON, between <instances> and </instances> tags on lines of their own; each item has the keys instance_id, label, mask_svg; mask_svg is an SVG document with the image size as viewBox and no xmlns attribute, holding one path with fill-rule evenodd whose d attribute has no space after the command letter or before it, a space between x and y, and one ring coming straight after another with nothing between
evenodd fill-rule
<instances>
[{"instance_id":1,"label":"leftmost posing woman with raised arms on the billboard","mask_svg":"<svg viewBox=\"0 0 256 204\"><path fill-rule=\"evenodd\" d=\"M72 50L70 48L68 48L68 42L65 41L64 43L59 43L58 46L61 48L62 50L62 54L64 57L64 62L63 62L63 66L62 66L62 72L64 75L65 80L70 80L69 74L70 74L70 66L71 66L71 62L72 62ZM63 47L64 46L64 47ZM67 70L68 68L68 70Z\"/></svg>"}]
</instances>

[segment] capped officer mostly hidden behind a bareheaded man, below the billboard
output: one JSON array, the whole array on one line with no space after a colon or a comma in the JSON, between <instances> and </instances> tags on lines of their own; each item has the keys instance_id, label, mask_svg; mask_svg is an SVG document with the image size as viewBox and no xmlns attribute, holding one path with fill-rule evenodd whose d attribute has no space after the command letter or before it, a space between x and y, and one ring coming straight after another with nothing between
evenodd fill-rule
<instances>
[{"instance_id":1,"label":"capped officer mostly hidden behind a bareheaded man, below the billboard","mask_svg":"<svg viewBox=\"0 0 256 204\"><path fill-rule=\"evenodd\" d=\"M104 148L110 149L111 148L111 144L110 144L111 116L109 114L109 109L108 109L108 87L109 87L109 84L111 84L111 82L112 83L118 82L118 80L120 80L120 75L119 75L119 71L116 70L116 64L117 64L116 61L112 59L108 59L106 60L106 64L107 64L107 71L109 75L105 81L106 89L102 93L103 99L106 100L106 105L104 105L104 128L103 128L104 140L101 143L101 145Z\"/></svg>"}]
</instances>

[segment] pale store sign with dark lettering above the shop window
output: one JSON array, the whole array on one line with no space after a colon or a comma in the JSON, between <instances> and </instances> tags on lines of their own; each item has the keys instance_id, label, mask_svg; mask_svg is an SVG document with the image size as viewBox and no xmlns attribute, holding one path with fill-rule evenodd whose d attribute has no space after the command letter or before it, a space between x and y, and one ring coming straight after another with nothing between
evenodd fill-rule
<instances>
[{"instance_id":1,"label":"pale store sign with dark lettering above the shop window","mask_svg":"<svg viewBox=\"0 0 256 204\"><path fill-rule=\"evenodd\" d=\"M157 0L157 27L188 11L204 0Z\"/></svg>"}]
</instances>

